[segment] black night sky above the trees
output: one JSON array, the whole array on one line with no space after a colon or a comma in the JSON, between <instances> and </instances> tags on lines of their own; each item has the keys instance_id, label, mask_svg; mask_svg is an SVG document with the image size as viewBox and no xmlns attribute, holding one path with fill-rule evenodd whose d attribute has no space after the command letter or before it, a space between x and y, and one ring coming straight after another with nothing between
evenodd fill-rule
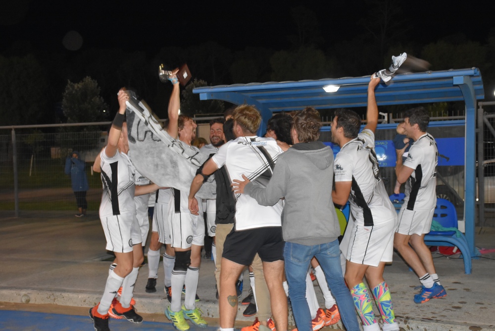
<instances>
[{"instance_id":1,"label":"black night sky above the trees","mask_svg":"<svg viewBox=\"0 0 495 331\"><path fill-rule=\"evenodd\" d=\"M1 0L0 54L19 41L49 52L118 47L156 53L164 46L188 47L205 41L235 51L247 46L287 49L286 36L297 32L291 8L300 4L316 13L325 41L322 48L331 49L363 33L358 22L367 17L370 2ZM399 17L405 41L427 44L465 33L469 40L485 42L495 26L490 1L395 3L402 3ZM76 37L64 47L62 41L70 31L77 32L72 33Z\"/></svg>"}]
</instances>

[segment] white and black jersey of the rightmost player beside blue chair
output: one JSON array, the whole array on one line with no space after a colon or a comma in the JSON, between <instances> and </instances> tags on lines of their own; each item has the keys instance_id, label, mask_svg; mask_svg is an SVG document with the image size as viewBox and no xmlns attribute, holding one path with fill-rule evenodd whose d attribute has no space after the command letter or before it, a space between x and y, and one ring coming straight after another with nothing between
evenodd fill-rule
<instances>
[{"instance_id":1,"label":"white and black jersey of the rightmost player beside blue chair","mask_svg":"<svg viewBox=\"0 0 495 331\"><path fill-rule=\"evenodd\" d=\"M405 183L404 205L408 210L427 210L437 204L437 142L425 133L412 144L403 165L414 171Z\"/></svg>"}]
</instances>

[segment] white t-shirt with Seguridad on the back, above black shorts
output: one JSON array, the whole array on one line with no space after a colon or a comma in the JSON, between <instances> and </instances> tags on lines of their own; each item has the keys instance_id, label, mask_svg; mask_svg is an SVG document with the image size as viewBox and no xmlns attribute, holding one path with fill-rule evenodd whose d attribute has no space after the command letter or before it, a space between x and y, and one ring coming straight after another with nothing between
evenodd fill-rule
<instances>
[{"instance_id":1,"label":"white t-shirt with Seguridad on the back, above black shorts","mask_svg":"<svg viewBox=\"0 0 495 331\"><path fill-rule=\"evenodd\" d=\"M212 160L218 168L226 166L231 182L243 179L244 174L250 181L266 187L282 152L272 138L239 137L222 145ZM282 200L265 207L246 194L238 194L236 198L236 230L282 225Z\"/></svg>"}]
</instances>

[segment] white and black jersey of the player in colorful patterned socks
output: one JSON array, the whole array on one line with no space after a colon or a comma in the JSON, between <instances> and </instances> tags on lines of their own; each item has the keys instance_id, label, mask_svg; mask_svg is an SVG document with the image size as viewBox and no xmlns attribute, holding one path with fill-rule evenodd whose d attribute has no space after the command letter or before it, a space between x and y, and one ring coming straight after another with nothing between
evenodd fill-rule
<instances>
[{"instance_id":1,"label":"white and black jersey of the player in colorful patterned socks","mask_svg":"<svg viewBox=\"0 0 495 331\"><path fill-rule=\"evenodd\" d=\"M351 181L350 209L355 220L372 226L396 217L380 177L375 153L375 135L363 130L345 144L334 162L335 181Z\"/></svg>"}]
</instances>

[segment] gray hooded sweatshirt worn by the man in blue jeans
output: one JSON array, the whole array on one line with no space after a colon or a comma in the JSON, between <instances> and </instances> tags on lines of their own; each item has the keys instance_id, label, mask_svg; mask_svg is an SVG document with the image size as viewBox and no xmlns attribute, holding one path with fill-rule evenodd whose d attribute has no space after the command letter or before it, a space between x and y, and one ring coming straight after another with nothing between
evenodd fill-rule
<instances>
[{"instance_id":1,"label":"gray hooded sweatshirt worn by the man in blue jeans","mask_svg":"<svg viewBox=\"0 0 495 331\"><path fill-rule=\"evenodd\" d=\"M250 182L244 193L262 206L273 206L285 198L285 241L306 246L323 244L340 235L332 201L333 175L334 155L330 147L319 141L297 143L278 157L266 188Z\"/></svg>"}]
</instances>

